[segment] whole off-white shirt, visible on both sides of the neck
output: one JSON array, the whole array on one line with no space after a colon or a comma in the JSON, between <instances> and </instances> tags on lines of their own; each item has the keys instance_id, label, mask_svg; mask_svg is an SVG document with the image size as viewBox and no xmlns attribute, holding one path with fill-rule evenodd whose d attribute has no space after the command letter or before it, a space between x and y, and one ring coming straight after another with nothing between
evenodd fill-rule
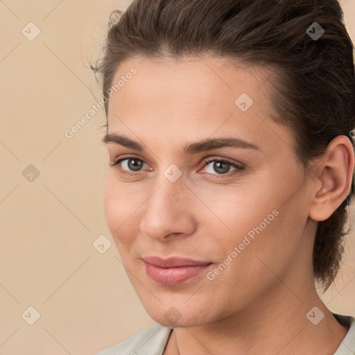
<instances>
[{"instance_id":1,"label":"whole off-white shirt, visible on both sides of the neck","mask_svg":"<svg viewBox=\"0 0 355 355\"><path fill-rule=\"evenodd\" d=\"M349 320L349 331L334 355L355 354L355 318ZM97 355L163 355L172 330L156 324Z\"/></svg>"}]
</instances>

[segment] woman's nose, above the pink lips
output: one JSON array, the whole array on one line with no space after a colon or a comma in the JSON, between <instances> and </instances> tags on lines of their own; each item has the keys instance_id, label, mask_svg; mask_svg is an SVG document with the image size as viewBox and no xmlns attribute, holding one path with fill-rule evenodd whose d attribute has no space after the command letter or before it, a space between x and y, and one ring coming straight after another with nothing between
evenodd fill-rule
<instances>
[{"instance_id":1,"label":"woman's nose, above the pink lips","mask_svg":"<svg viewBox=\"0 0 355 355\"><path fill-rule=\"evenodd\" d=\"M159 241L168 236L187 236L196 228L191 191L181 180L164 180L144 204L140 224L144 234Z\"/></svg>"}]
</instances>

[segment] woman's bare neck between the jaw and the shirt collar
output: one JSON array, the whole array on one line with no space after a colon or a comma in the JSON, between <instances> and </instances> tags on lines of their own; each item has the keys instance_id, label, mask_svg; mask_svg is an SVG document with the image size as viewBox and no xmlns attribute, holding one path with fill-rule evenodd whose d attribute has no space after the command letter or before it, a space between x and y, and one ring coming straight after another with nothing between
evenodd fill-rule
<instances>
[{"instance_id":1,"label":"woman's bare neck between the jaw and the shirt collar","mask_svg":"<svg viewBox=\"0 0 355 355\"><path fill-rule=\"evenodd\" d=\"M302 295L295 295L282 283L245 311L211 324L175 328L164 354L334 354L347 327L324 306L313 280L307 288L295 289L303 289ZM315 306L319 310L309 312ZM320 322L315 325L310 320Z\"/></svg>"}]
</instances>

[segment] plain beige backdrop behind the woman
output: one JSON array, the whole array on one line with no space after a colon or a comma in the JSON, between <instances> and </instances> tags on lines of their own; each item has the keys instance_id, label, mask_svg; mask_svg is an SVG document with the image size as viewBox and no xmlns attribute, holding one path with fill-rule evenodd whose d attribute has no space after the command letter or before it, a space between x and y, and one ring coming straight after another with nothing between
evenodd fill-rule
<instances>
[{"instance_id":1,"label":"plain beige backdrop behind the woman","mask_svg":"<svg viewBox=\"0 0 355 355\"><path fill-rule=\"evenodd\" d=\"M104 110L64 137L101 96L87 67L110 11L129 2L0 1L0 355L96 354L154 324L113 242L103 254L92 245L100 235L112 241L103 211ZM342 3L355 42L355 0ZM35 34L30 21L40 28L32 41L21 33ZM40 172L33 181L31 167L22 173L30 164ZM354 234L346 248L323 299L355 316ZM29 306L40 313L33 325Z\"/></svg>"}]
</instances>

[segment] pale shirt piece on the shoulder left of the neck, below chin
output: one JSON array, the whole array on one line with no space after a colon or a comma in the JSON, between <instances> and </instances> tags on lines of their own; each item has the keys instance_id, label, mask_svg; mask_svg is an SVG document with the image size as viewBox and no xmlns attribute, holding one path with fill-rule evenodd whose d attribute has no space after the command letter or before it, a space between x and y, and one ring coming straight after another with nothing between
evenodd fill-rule
<instances>
[{"instance_id":1,"label":"pale shirt piece on the shoulder left of the neck, below chin","mask_svg":"<svg viewBox=\"0 0 355 355\"><path fill-rule=\"evenodd\" d=\"M156 324L97 355L162 355L171 330Z\"/></svg>"}]
</instances>

